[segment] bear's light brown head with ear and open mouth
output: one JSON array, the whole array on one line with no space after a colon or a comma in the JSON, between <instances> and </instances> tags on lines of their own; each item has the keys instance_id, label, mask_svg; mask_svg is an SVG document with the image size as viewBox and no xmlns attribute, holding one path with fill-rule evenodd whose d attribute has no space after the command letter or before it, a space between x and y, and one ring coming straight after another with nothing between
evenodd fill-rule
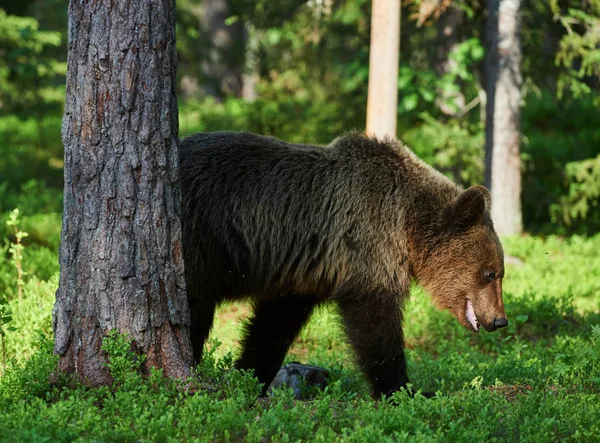
<instances>
[{"instance_id":1,"label":"bear's light brown head with ear and open mouth","mask_svg":"<svg viewBox=\"0 0 600 443\"><path fill-rule=\"evenodd\" d=\"M440 215L438 241L418 276L436 303L473 332L508 324L502 300L504 252L490 204L483 186L462 191Z\"/></svg>"}]
</instances>

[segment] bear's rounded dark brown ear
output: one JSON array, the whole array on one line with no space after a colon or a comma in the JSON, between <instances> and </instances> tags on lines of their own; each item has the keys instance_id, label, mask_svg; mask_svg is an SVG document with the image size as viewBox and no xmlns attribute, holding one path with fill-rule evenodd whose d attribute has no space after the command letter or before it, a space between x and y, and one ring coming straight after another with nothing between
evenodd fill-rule
<instances>
[{"instance_id":1,"label":"bear's rounded dark brown ear","mask_svg":"<svg viewBox=\"0 0 600 443\"><path fill-rule=\"evenodd\" d=\"M447 223L468 228L483 221L485 211L492 205L490 191L483 186L471 186L454 200L445 211Z\"/></svg>"}]
</instances>

